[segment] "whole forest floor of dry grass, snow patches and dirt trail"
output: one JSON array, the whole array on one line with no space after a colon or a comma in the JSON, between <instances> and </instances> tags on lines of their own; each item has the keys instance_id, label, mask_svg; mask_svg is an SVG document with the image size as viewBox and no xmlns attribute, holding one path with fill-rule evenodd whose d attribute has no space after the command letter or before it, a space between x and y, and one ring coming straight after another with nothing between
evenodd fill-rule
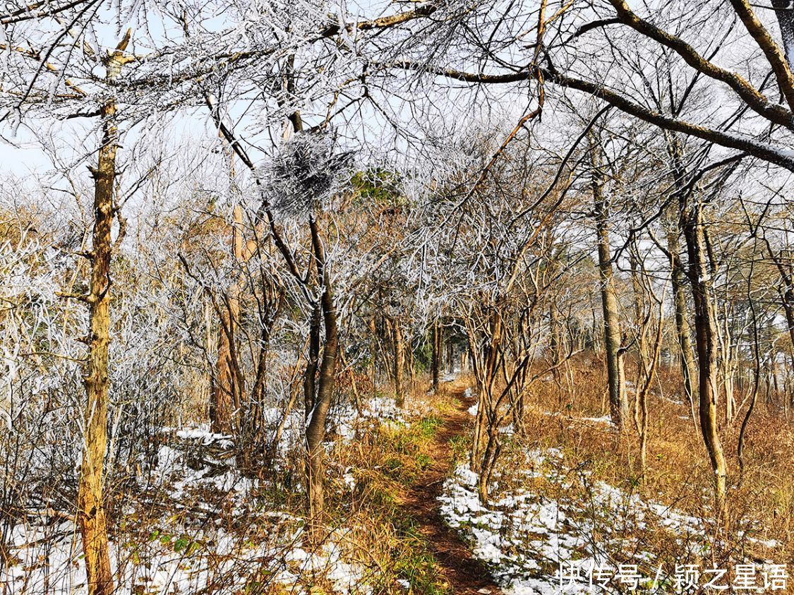
<instances>
[{"instance_id":1,"label":"whole forest floor of dry grass, snow patches and dirt trail","mask_svg":"<svg viewBox=\"0 0 794 595\"><path fill-rule=\"evenodd\" d=\"M663 373L651 394L643 475L636 437L621 442L605 415L599 362L577 363L570 393L541 381L522 426L500 427L487 503L468 468L474 378L450 375L437 393L425 379L405 408L387 391L364 395L360 410L341 404L328 442L329 529L319 545L304 541L295 484L300 411L288 418L278 466L264 478L239 473L229 437L206 424L162 428L153 456L133 469L134 489L118 488L115 593L597 595L611 591L594 591L587 569L612 573L619 585L621 564L638 566L643 579L663 572L661 592L674 593L682 564L752 562L759 585L773 565L792 567L794 431L779 413L755 413L750 470L731 491L730 540L717 543L709 537L709 467L692 456L702 445L676 378ZM734 436L735 428L728 453ZM86 593L67 512L6 526L0 592ZM561 589L569 566L582 580ZM786 593L794 593L790 583Z\"/></svg>"}]
</instances>

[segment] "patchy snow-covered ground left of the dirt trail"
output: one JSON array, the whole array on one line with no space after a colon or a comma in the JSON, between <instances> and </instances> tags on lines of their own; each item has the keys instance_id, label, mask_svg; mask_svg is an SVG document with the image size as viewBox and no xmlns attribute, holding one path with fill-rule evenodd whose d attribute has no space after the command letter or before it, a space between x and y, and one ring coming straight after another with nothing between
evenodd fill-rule
<instances>
[{"instance_id":1,"label":"patchy snow-covered ground left of the dirt trail","mask_svg":"<svg viewBox=\"0 0 794 595\"><path fill-rule=\"evenodd\" d=\"M279 411L273 408L264 415L275 431ZM352 407L333 408L330 421L343 438L352 439L361 418L399 421L402 415L393 400L376 399L361 415ZM288 453L303 440L303 424L302 411L287 416L279 452ZM211 587L212 593L222 595L257 592L273 584L284 585L290 593L310 593L309 585L317 581L333 593L372 592L364 569L345 562L344 531L331 535L321 551L310 553L303 544L303 520L273 510L256 496L267 486L237 472L229 436L209 431L206 424L166 427L161 435L165 443L140 470L141 501L122 507L125 524L134 525L142 516L148 517L148 524L137 534L129 527L129 533L122 530L125 539L110 544L115 593L165 595ZM355 487L351 473L342 481L346 489ZM141 515L136 508L155 502L164 508L161 517ZM223 515L218 514L221 509ZM6 531L10 563L0 570L3 593L87 593L75 524L60 516L43 520Z\"/></svg>"}]
</instances>

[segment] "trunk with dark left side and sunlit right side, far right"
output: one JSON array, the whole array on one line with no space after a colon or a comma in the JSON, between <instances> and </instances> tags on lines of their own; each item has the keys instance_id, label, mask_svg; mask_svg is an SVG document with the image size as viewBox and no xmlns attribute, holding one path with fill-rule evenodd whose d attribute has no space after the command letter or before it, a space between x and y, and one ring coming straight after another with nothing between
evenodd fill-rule
<instances>
[{"instance_id":1,"label":"trunk with dark left side and sunlit right side, far right","mask_svg":"<svg viewBox=\"0 0 794 595\"><path fill-rule=\"evenodd\" d=\"M700 205L682 209L684 238L689 256L689 283L695 299L695 342L698 356L700 431L714 471L715 510L719 520L727 520L727 463L717 425L717 357L714 305L711 296L711 271L703 240L703 215Z\"/></svg>"}]
</instances>

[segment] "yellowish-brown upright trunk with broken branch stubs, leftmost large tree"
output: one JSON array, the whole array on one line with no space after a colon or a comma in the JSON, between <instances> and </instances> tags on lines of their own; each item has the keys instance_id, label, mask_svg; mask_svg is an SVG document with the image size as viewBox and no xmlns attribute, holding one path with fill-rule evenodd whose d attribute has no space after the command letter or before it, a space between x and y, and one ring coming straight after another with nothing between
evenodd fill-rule
<instances>
[{"instance_id":1,"label":"yellowish-brown upright trunk with broken branch stubs, leftmost large tree","mask_svg":"<svg viewBox=\"0 0 794 595\"><path fill-rule=\"evenodd\" d=\"M127 41L129 33L117 51L106 58L107 79L110 81L121 72L121 65L124 64L122 52ZM87 296L88 361L83 379L87 402L83 418L85 444L77 493L77 520L83 538L88 595L110 595L114 590L103 488L110 386L110 257L113 251L110 230L114 219L118 149L116 109L115 99L102 104L102 147L99 149L97 167L91 169L94 177L94 230Z\"/></svg>"}]
</instances>

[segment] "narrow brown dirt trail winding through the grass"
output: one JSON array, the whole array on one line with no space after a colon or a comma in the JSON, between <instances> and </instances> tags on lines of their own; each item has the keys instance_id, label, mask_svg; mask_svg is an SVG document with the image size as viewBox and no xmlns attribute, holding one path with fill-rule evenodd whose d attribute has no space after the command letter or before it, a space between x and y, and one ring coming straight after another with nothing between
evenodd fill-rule
<instances>
[{"instance_id":1,"label":"narrow brown dirt trail winding through the grass","mask_svg":"<svg viewBox=\"0 0 794 595\"><path fill-rule=\"evenodd\" d=\"M430 549L455 595L501 595L502 591L488 568L472 556L468 545L441 518L438 496L452 464L449 441L471 428L472 417L466 410L474 403L474 399L464 396L464 388L456 390L452 396L461 402L461 406L442 417L443 424L436 432L428 453L433 465L410 486L403 508L414 517L420 532L430 542Z\"/></svg>"}]
</instances>

